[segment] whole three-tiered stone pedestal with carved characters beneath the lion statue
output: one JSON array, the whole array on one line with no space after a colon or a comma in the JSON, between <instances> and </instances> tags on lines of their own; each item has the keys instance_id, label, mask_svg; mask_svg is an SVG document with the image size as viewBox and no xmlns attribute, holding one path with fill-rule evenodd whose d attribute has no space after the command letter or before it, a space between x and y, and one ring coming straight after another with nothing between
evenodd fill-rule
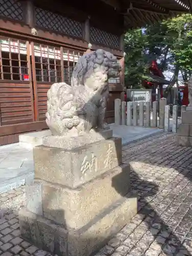
<instances>
[{"instance_id":1,"label":"whole three-tiered stone pedestal with carved characters beneath the lion statue","mask_svg":"<svg viewBox=\"0 0 192 256\"><path fill-rule=\"evenodd\" d=\"M45 139L45 143L53 138ZM82 142L82 141L81 141ZM75 142L74 142L75 143ZM19 212L22 236L59 256L89 256L137 213L120 138L36 146L35 179Z\"/></svg>"}]
</instances>

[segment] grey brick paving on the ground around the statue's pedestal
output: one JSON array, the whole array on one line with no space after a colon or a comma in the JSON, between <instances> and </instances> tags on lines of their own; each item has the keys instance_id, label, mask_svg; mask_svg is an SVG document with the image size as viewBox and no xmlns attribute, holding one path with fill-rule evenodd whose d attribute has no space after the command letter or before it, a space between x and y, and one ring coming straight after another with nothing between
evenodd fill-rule
<instances>
[{"instance_id":1,"label":"grey brick paving on the ground around the statue's pedestal","mask_svg":"<svg viewBox=\"0 0 192 256\"><path fill-rule=\"evenodd\" d=\"M192 255L191 154L171 133L123 147L138 214L95 256ZM0 255L50 255L19 237L17 212L26 204L25 186L1 194L0 204Z\"/></svg>"}]
</instances>

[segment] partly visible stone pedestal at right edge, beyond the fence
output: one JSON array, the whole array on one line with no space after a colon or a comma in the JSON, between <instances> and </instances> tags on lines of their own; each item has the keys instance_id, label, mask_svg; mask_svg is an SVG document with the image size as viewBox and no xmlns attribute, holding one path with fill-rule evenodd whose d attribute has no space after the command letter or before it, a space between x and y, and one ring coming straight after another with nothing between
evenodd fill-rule
<instances>
[{"instance_id":1,"label":"partly visible stone pedestal at right edge, beyond the fence","mask_svg":"<svg viewBox=\"0 0 192 256\"><path fill-rule=\"evenodd\" d=\"M182 111L181 124L177 131L177 144L180 146L192 146L192 110L187 107Z\"/></svg>"}]
</instances>

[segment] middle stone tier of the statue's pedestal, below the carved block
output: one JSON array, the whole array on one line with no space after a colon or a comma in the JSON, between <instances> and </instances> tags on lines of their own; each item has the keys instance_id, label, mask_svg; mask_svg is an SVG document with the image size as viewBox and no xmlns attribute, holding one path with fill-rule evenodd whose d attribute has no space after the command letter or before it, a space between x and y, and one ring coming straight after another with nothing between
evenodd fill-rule
<instances>
[{"instance_id":1,"label":"middle stone tier of the statue's pedestal, below the carved block","mask_svg":"<svg viewBox=\"0 0 192 256\"><path fill-rule=\"evenodd\" d=\"M130 190L130 165L121 164L79 188L35 181L26 188L27 208L67 228L81 228Z\"/></svg>"}]
</instances>

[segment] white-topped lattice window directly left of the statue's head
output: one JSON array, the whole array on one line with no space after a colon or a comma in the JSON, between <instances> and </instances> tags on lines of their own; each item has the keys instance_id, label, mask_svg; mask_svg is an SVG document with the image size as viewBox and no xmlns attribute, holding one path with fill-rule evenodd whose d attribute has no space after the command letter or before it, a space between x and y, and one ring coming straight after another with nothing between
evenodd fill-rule
<instances>
[{"instance_id":1,"label":"white-topped lattice window directly left of the statue's head","mask_svg":"<svg viewBox=\"0 0 192 256\"><path fill-rule=\"evenodd\" d=\"M75 64L82 52L34 44L36 80L71 83Z\"/></svg>"}]
</instances>

